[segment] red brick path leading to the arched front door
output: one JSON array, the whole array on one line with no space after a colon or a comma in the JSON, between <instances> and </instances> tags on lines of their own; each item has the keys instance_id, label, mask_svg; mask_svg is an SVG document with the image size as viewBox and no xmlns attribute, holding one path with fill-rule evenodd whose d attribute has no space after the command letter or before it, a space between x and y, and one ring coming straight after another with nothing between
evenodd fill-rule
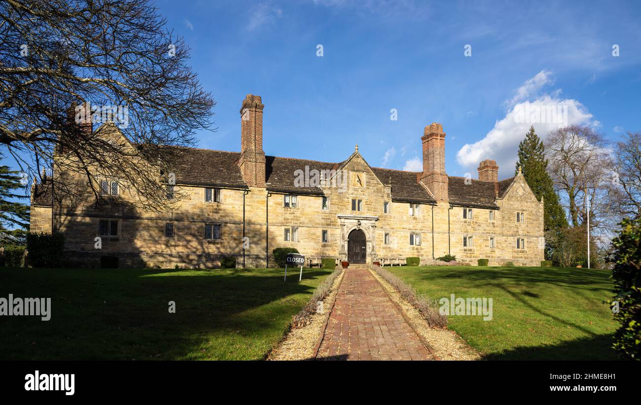
<instances>
[{"instance_id":1,"label":"red brick path leading to the arched front door","mask_svg":"<svg viewBox=\"0 0 641 405\"><path fill-rule=\"evenodd\" d=\"M317 359L432 358L369 270L347 269Z\"/></svg>"}]
</instances>

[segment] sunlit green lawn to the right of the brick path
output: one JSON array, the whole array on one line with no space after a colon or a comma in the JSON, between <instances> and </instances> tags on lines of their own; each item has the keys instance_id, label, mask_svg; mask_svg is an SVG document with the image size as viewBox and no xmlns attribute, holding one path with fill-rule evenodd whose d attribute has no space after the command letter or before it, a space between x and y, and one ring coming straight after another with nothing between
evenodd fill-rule
<instances>
[{"instance_id":1,"label":"sunlit green lawn to the right of the brick path","mask_svg":"<svg viewBox=\"0 0 641 405\"><path fill-rule=\"evenodd\" d=\"M492 298L494 318L450 315L488 360L616 360L617 324L603 301L610 271L556 267L392 267L420 293Z\"/></svg>"}]
</instances>

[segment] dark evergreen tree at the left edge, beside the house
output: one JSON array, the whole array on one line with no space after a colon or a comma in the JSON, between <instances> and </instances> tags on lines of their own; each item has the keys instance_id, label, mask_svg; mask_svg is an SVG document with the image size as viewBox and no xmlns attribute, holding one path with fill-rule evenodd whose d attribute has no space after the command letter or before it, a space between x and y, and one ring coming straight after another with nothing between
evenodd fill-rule
<instances>
[{"instance_id":1,"label":"dark evergreen tree at the left edge, beside the house","mask_svg":"<svg viewBox=\"0 0 641 405\"><path fill-rule=\"evenodd\" d=\"M25 229L29 226L29 206L9 199L24 199L24 194L15 190L23 187L20 172L0 166L0 237L13 236L18 240L24 238ZM8 229L12 227L13 229Z\"/></svg>"}]
</instances>

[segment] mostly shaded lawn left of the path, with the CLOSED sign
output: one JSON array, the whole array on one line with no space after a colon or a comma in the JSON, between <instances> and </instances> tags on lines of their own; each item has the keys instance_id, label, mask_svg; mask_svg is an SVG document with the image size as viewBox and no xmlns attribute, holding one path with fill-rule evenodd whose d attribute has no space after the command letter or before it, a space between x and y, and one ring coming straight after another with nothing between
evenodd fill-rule
<instances>
[{"instance_id":1,"label":"mostly shaded lawn left of the path, with the CLOSED sign","mask_svg":"<svg viewBox=\"0 0 641 405\"><path fill-rule=\"evenodd\" d=\"M0 268L0 297L52 306L47 322L0 317L0 360L262 359L330 273Z\"/></svg>"}]
</instances>

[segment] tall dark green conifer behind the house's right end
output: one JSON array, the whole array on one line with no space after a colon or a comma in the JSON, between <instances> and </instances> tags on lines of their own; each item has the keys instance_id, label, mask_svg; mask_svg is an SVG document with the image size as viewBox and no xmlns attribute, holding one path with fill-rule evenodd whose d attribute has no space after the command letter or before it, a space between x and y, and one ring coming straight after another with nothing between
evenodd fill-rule
<instances>
[{"instance_id":1,"label":"tall dark green conifer behind the house's right end","mask_svg":"<svg viewBox=\"0 0 641 405\"><path fill-rule=\"evenodd\" d=\"M567 217L563 207L559 203L559 197L554 192L554 183L547 173L547 159L545 159L545 147L543 141L535 133L534 127L529 128L525 139L519 144L519 160L515 172L519 172L528 181L534 195L540 200L544 198L544 231L558 232L568 226ZM550 248L545 249L546 257L551 254Z\"/></svg>"}]
</instances>

